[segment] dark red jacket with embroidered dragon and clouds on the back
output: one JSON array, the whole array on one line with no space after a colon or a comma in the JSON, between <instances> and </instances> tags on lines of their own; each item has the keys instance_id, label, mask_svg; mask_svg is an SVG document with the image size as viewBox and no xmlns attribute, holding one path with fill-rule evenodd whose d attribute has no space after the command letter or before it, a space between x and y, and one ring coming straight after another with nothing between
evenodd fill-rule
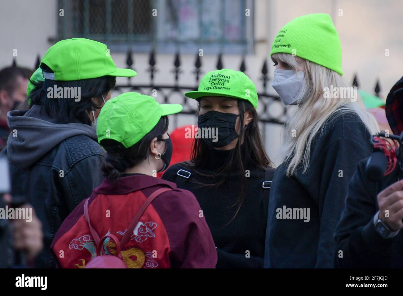
<instances>
[{"instance_id":1,"label":"dark red jacket with embroidered dragon and clouds on the back","mask_svg":"<svg viewBox=\"0 0 403 296\"><path fill-rule=\"evenodd\" d=\"M145 199L163 187L172 190L147 207L121 252L123 261L129 268L214 268L216 248L195 196L160 178L139 174L104 180L89 199L93 228L100 238L112 233L121 240ZM84 202L63 221L50 247L64 268L82 268L95 256ZM116 254L115 244L106 242L106 254Z\"/></svg>"}]
</instances>

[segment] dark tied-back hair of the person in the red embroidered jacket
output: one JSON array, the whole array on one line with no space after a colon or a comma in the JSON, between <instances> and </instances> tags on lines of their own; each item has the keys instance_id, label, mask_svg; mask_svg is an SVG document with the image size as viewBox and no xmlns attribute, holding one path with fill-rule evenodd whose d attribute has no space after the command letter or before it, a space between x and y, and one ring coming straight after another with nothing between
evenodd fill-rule
<instances>
[{"instance_id":1,"label":"dark tied-back hair of the person in the red embroidered jacket","mask_svg":"<svg viewBox=\"0 0 403 296\"><path fill-rule=\"evenodd\" d=\"M106 150L106 158L102 163L101 170L104 177L113 182L120 177L122 172L133 168L150 154L150 143L156 137L162 139L162 135L168 130L168 116L162 116L156 126L147 133L140 141L129 148L112 139L104 139L101 145Z\"/></svg>"}]
</instances>

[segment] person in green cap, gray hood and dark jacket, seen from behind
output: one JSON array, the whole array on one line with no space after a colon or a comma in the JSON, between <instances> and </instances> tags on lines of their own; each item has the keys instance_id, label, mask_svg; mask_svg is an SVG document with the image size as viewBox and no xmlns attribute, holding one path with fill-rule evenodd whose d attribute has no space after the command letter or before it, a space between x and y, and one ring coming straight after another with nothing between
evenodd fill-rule
<instances>
[{"instance_id":1,"label":"person in green cap, gray hood and dark jacket, seen from behind","mask_svg":"<svg viewBox=\"0 0 403 296\"><path fill-rule=\"evenodd\" d=\"M15 132L2 153L10 160L13 199L27 199L43 224L44 249L34 267L51 268L49 247L62 221L103 180L96 118L116 76L136 72L116 68L105 44L83 38L53 45L40 68L44 79L32 81L30 110L8 113Z\"/></svg>"}]
</instances>

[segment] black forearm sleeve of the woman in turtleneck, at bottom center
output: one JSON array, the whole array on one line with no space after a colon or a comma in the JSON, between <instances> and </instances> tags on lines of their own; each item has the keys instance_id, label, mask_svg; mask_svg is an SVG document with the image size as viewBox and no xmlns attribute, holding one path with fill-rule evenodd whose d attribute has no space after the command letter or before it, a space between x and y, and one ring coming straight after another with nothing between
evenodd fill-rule
<instances>
[{"instance_id":1,"label":"black forearm sleeve of the woman in turtleneck, at bottom center","mask_svg":"<svg viewBox=\"0 0 403 296\"><path fill-rule=\"evenodd\" d=\"M216 250L217 268L263 268L263 258L254 256L248 258L245 254L231 254L219 248Z\"/></svg>"}]
</instances>

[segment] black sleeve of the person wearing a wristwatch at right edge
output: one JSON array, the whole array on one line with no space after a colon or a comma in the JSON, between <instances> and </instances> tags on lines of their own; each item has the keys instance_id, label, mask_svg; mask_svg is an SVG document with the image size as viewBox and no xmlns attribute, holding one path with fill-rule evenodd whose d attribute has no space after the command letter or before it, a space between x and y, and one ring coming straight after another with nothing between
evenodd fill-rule
<instances>
[{"instance_id":1,"label":"black sleeve of the person wearing a wristwatch at right edge","mask_svg":"<svg viewBox=\"0 0 403 296\"><path fill-rule=\"evenodd\" d=\"M376 187L365 176L366 160L357 166L348 186L345 209L335 232L336 267L388 267L395 238L383 239L375 232L373 218Z\"/></svg>"}]
</instances>

